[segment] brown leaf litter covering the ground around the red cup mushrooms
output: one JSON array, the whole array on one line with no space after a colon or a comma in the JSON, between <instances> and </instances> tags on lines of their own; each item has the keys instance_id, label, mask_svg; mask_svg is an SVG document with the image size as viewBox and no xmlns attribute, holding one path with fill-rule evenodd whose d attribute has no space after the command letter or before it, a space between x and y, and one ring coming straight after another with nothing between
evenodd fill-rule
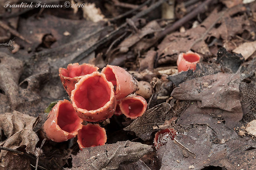
<instances>
[{"instance_id":1,"label":"brown leaf litter covering the ground around the red cup mushrooms","mask_svg":"<svg viewBox=\"0 0 256 170\"><path fill-rule=\"evenodd\" d=\"M163 35L204 3L177 2L173 23L156 19L163 2L142 0L142 5L131 6L113 1L122 5L115 8L112 2L103 7L95 1L89 6L99 17L87 15L95 23L81 20L88 8L76 8L76 14L63 9L56 9L58 14L49 9L8 11L14 18L1 11L0 40L16 36L19 48L10 53L0 46L0 169L31 169L37 158L38 169L255 169L256 3L214 2ZM129 15L134 17L123 19ZM114 18L108 21L109 16ZM177 56L188 50L203 59L195 71L177 74ZM73 139L47 141L40 149L44 109L52 101L68 99L57 69L73 61L126 67L137 80L150 82L154 93L142 117L109 119L104 125L107 145L78 152ZM177 136L152 152L154 133L166 128L175 129ZM116 142L111 135L116 132L119 140L138 142Z\"/></svg>"}]
</instances>

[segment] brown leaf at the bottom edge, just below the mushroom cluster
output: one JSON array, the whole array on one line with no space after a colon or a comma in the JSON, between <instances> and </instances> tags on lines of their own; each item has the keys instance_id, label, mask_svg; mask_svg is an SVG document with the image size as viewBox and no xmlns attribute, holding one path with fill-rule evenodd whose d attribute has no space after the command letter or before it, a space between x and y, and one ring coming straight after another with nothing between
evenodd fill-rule
<instances>
[{"instance_id":1,"label":"brown leaf at the bottom edge, just below the mushroom cluster","mask_svg":"<svg viewBox=\"0 0 256 170\"><path fill-rule=\"evenodd\" d=\"M83 148L72 155L72 170L116 169L124 162L136 162L153 149L139 142L122 141L114 144Z\"/></svg>"}]
</instances>

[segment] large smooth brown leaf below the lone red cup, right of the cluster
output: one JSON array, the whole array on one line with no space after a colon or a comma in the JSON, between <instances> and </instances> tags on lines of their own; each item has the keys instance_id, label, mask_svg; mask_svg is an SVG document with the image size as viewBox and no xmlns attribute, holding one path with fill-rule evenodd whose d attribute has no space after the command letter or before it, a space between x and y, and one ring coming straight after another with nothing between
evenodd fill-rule
<instances>
[{"instance_id":1,"label":"large smooth brown leaf below the lone red cup, right of the cluster","mask_svg":"<svg viewBox=\"0 0 256 170\"><path fill-rule=\"evenodd\" d=\"M222 115L226 125L232 128L243 116L239 84L239 74L218 73L181 83L173 90L171 96L191 101L190 106L181 115L183 121L191 121L196 114L199 117L200 114L206 113Z\"/></svg>"}]
</instances>

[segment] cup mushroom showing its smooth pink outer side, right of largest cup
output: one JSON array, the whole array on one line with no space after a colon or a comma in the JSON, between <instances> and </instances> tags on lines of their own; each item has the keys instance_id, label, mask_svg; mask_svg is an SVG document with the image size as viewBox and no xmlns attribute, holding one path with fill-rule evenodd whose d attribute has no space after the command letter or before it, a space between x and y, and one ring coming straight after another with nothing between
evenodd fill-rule
<instances>
[{"instance_id":1,"label":"cup mushroom showing its smooth pink outer side, right of largest cup","mask_svg":"<svg viewBox=\"0 0 256 170\"><path fill-rule=\"evenodd\" d=\"M125 69L107 65L102 69L108 81L114 85L116 99L123 99L137 90L137 82Z\"/></svg>"}]
</instances>

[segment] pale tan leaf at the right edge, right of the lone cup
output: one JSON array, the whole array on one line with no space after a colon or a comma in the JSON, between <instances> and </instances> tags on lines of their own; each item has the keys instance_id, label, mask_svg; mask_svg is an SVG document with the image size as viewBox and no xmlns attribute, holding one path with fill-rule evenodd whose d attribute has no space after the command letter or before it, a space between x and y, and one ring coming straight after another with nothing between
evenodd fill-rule
<instances>
[{"instance_id":1,"label":"pale tan leaf at the right edge, right of the lone cup","mask_svg":"<svg viewBox=\"0 0 256 170\"><path fill-rule=\"evenodd\" d=\"M233 50L234 53L242 54L247 60L256 51L256 41L245 42Z\"/></svg>"}]
</instances>

